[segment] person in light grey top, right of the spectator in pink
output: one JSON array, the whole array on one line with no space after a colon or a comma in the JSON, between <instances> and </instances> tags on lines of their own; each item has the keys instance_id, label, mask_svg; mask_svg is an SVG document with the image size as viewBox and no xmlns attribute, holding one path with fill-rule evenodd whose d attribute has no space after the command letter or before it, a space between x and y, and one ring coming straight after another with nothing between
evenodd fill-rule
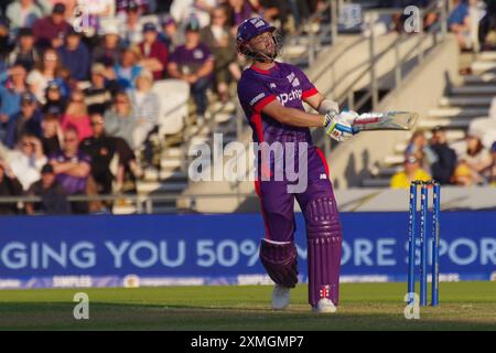
<instances>
[{"instance_id":1,"label":"person in light grey top, right of the spectator in pink","mask_svg":"<svg viewBox=\"0 0 496 353\"><path fill-rule=\"evenodd\" d=\"M112 108L105 113L105 132L125 139L134 150L139 147L134 145L133 140L137 120L129 96L125 92L120 92L114 98Z\"/></svg>"}]
</instances>

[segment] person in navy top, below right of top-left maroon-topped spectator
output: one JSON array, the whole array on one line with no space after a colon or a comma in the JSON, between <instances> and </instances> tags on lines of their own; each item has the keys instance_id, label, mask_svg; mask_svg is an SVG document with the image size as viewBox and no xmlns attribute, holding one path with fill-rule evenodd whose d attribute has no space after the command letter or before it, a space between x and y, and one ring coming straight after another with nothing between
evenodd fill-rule
<instances>
[{"instance_id":1,"label":"person in navy top, below right of top-left maroon-topped spectator","mask_svg":"<svg viewBox=\"0 0 496 353\"><path fill-rule=\"evenodd\" d=\"M80 33L69 29L66 33L65 44L58 49L62 64L69 71L71 77L76 81L86 81L89 73L89 51L80 41Z\"/></svg>"}]
</instances>

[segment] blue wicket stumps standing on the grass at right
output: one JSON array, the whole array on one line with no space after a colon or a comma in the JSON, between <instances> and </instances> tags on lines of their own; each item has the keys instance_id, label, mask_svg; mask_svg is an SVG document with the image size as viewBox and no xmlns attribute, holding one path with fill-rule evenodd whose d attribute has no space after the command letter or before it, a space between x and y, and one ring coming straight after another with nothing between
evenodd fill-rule
<instances>
[{"instance_id":1,"label":"blue wicket stumps standing on the grass at right","mask_svg":"<svg viewBox=\"0 0 496 353\"><path fill-rule=\"evenodd\" d=\"M420 200L420 235L417 236L417 190L421 186ZM409 303L413 302L416 291L416 246L417 237L420 240L420 306L427 306L427 282L428 282L428 214L429 214L429 186L432 186L432 269L431 269L431 306L439 304L439 216L441 186L436 181L412 181L410 183L410 208L408 228L408 293Z\"/></svg>"}]
</instances>

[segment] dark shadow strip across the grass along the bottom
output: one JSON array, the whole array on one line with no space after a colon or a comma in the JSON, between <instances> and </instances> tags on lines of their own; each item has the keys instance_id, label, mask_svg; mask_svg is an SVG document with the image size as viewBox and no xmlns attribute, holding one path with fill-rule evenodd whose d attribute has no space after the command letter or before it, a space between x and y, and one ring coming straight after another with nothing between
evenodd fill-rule
<instances>
[{"instance_id":1,"label":"dark shadow strip across the grass along the bottom","mask_svg":"<svg viewBox=\"0 0 496 353\"><path fill-rule=\"evenodd\" d=\"M406 320L398 306L348 307L334 314L315 314L308 306L288 311L268 308L158 306L91 302L89 320L75 320L72 302L10 302L0 306L0 330L496 330L495 321L477 321L442 311ZM367 312L368 310L368 312Z\"/></svg>"}]
</instances>

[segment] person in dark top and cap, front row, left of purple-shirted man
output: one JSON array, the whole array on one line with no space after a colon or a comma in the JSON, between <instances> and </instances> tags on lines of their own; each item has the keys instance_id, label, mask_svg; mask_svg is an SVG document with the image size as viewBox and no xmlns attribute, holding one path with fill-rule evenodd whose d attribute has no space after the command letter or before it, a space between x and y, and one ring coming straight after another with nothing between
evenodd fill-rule
<instances>
[{"instance_id":1,"label":"person in dark top and cap, front row, left of purple-shirted man","mask_svg":"<svg viewBox=\"0 0 496 353\"><path fill-rule=\"evenodd\" d=\"M71 205L64 188L56 181L52 164L43 165L41 180L34 182L26 192L28 196L40 196L41 202L26 203L28 214L69 214Z\"/></svg>"}]
</instances>

